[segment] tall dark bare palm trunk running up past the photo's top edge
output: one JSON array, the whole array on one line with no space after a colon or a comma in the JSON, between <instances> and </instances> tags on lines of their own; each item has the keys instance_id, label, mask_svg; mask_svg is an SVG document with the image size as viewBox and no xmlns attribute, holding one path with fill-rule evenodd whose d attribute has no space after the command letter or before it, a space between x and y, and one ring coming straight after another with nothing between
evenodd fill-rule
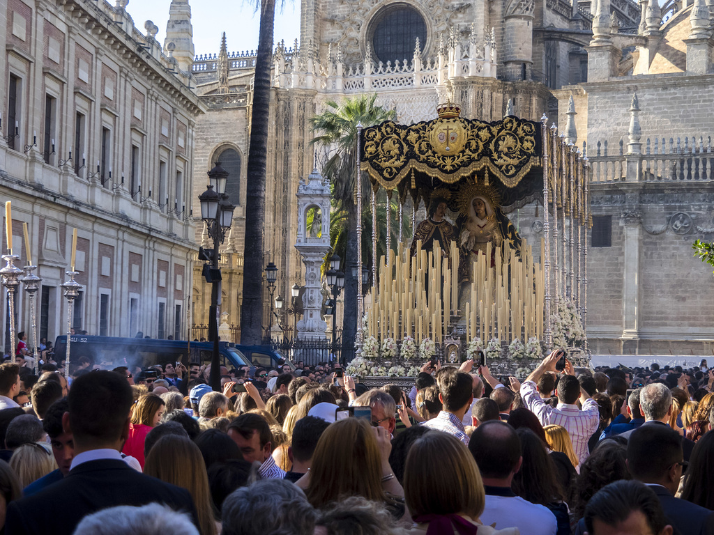
<instances>
[{"instance_id":1,"label":"tall dark bare palm trunk running up past the photo's top edge","mask_svg":"<svg viewBox=\"0 0 714 535\"><path fill-rule=\"evenodd\" d=\"M261 1L251 143L248 147L246 184L246 238L243 257L243 307L241 344L256 345L262 339L263 318L263 228L266 206L266 161L268 154L268 114L270 113L270 72L273 58L275 0Z\"/></svg>"}]
</instances>

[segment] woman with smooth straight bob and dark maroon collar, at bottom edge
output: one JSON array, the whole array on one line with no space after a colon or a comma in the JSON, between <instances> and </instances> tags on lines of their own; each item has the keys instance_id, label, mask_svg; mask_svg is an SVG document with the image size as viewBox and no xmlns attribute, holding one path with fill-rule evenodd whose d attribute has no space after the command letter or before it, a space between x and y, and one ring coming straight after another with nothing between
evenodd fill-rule
<instances>
[{"instance_id":1,"label":"woman with smooth straight bob and dark maroon collar, at bottom edge","mask_svg":"<svg viewBox=\"0 0 714 535\"><path fill-rule=\"evenodd\" d=\"M439 462L433 462L439 459ZM468 448L450 434L426 433L412 444L404 469L406 505L416 523L408 534L518 535L483 526L481 474Z\"/></svg>"}]
</instances>

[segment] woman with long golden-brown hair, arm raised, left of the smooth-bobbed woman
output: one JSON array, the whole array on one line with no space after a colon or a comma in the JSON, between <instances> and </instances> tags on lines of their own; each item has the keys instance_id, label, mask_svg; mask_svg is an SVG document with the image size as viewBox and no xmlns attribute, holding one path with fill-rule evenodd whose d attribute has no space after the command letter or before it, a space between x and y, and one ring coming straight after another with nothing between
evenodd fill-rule
<instances>
[{"instance_id":1,"label":"woman with long golden-brown hair, arm raised, left of the smooth-bobbed woman","mask_svg":"<svg viewBox=\"0 0 714 535\"><path fill-rule=\"evenodd\" d=\"M361 418L330 424L318 440L310 472L296 483L317 509L349 496L386 504L395 518L405 514L404 491L389 466L391 442L383 427Z\"/></svg>"}]
</instances>

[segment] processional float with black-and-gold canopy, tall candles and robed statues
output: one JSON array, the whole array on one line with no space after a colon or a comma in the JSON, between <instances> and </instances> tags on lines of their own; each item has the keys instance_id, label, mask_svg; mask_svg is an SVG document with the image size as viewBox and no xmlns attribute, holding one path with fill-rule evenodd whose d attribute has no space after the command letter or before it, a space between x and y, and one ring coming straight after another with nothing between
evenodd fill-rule
<instances>
[{"instance_id":1,"label":"processional float with black-and-gold canopy, tall candles and robed statues","mask_svg":"<svg viewBox=\"0 0 714 535\"><path fill-rule=\"evenodd\" d=\"M545 115L537 122L511 113L487 123L462 118L452 102L437 112L413 125L358 126L358 169L371 185L372 250L381 188L398 200L400 238L408 199L412 207L423 203L428 216L418 223L413 208L413 236L393 248L386 211L388 254L372 263L364 317L358 297L363 320L353 369L372 374L385 360L391 374L413 374L412 365L434 352L458 362L485 349L511 360L513 372L554 345L579 353L575 360L585 365L587 158L555 125L548 128ZM540 238L531 236L531 244L506 214L533 202L531 229ZM358 226L358 272L361 240Z\"/></svg>"}]
</instances>

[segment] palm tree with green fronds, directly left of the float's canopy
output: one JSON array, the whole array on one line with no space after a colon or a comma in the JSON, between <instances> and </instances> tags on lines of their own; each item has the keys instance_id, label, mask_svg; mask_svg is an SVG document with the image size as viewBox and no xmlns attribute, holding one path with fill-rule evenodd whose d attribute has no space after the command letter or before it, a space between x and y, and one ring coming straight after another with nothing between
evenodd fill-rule
<instances>
[{"instance_id":1,"label":"palm tree with green fronds, directly left of the float's canopy","mask_svg":"<svg viewBox=\"0 0 714 535\"><path fill-rule=\"evenodd\" d=\"M347 244L342 256L341 270L345 274L345 300L342 324L343 358L350 356L357 334L357 291L361 274L352 275L352 267L357 261L357 225L360 218L355 203L356 179L356 138L357 125L372 126L396 117L393 110L376 106L376 93L348 98L343 103L327 103L327 111L311 119L313 130L318 135L311 143L316 143L331 152L323 168L323 175L333 187L336 208L346 213ZM361 178L363 198L369 192L369 180Z\"/></svg>"}]
</instances>

